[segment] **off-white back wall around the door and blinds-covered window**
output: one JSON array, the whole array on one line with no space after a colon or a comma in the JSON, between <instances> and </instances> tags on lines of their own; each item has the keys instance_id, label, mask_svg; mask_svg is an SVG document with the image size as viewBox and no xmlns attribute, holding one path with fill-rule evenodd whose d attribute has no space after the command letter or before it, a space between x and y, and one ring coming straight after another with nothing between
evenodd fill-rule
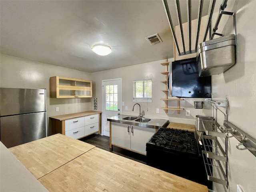
<instances>
[{"instance_id":1,"label":"off-white back wall around the door and blinds-covered window","mask_svg":"<svg viewBox=\"0 0 256 192\"><path fill-rule=\"evenodd\" d=\"M161 98L165 98L165 93L160 91L165 89L165 84L160 81L165 80L166 77L165 75L160 74L160 72L166 70L165 66L160 64L162 62L165 62L165 60L93 73L92 79L95 84L94 87L96 88L95 97L98 98L98 110L102 110L102 80L122 78L122 101L124 102L124 106L122 106L122 114L138 116L138 108L134 108L134 111L132 112L132 107L136 103L132 102L132 81L152 79L152 103L140 103L144 116L165 118L169 119L170 122L194 124L196 115L202 114L201 109L194 108L194 101L202 101L202 99L199 98L186 98L184 101L180 102L180 107L190 110L191 116L186 116L185 110L182 110L180 114L178 114L177 110L168 110L168 113L165 113L164 110L160 109L160 113L156 113L156 108L165 107L165 102L160 100ZM125 110L125 106L128 107L128 110ZM177 107L177 101L168 101L168 106Z\"/></svg>"}]
</instances>

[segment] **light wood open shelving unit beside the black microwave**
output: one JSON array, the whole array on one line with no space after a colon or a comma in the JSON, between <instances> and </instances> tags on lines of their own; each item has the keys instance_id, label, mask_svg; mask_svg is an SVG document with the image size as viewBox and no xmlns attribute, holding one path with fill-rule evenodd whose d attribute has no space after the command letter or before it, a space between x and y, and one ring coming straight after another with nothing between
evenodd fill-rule
<instances>
[{"instance_id":1,"label":"light wood open shelving unit beside the black microwave","mask_svg":"<svg viewBox=\"0 0 256 192\"><path fill-rule=\"evenodd\" d=\"M166 62L164 63L161 63L162 66L165 66L165 71L164 72L161 72L161 74L165 75L165 80L164 81L161 81L162 83L165 84L165 89L164 90L161 90L165 93L165 98L162 98L161 100L163 100L165 102L165 107L161 107L161 109L163 109L166 113L168 112L168 110L177 110L178 111L178 114L180 114L180 111L183 110L183 108L180 108L180 101L184 100L184 99L180 99L180 98L168 98L168 93L169 93L169 90L167 88L167 81L168 81L168 74L169 74L169 71L168 71L168 66L170 65L170 61L167 61L166 59ZM168 107L168 101L177 101L177 107Z\"/></svg>"}]
</instances>

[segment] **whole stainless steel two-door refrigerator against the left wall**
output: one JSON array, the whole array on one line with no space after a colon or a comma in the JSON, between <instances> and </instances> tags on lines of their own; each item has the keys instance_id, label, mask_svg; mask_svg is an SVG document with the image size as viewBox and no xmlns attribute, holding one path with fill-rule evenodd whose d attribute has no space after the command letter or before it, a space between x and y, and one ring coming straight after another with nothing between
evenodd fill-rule
<instances>
[{"instance_id":1,"label":"whole stainless steel two-door refrigerator against the left wall","mask_svg":"<svg viewBox=\"0 0 256 192\"><path fill-rule=\"evenodd\" d=\"M46 89L0 88L1 142L10 148L46 135Z\"/></svg>"}]
</instances>

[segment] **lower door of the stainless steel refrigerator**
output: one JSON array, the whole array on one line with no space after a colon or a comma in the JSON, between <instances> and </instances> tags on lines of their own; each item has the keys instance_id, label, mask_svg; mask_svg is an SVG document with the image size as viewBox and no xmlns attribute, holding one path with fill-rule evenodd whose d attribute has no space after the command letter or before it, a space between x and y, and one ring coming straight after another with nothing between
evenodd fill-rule
<instances>
[{"instance_id":1,"label":"lower door of the stainless steel refrigerator","mask_svg":"<svg viewBox=\"0 0 256 192\"><path fill-rule=\"evenodd\" d=\"M1 142L7 147L46 137L46 112L1 117Z\"/></svg>"}]
</instances>

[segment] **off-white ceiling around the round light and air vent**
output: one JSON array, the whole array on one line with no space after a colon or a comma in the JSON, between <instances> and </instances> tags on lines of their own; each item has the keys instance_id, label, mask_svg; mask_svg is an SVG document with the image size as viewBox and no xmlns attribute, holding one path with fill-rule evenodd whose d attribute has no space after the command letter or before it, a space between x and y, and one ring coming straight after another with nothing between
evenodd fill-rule
<instances>
[{"instance_id":1,"label":"off-white ceiling around the round light and air vent","mask_svg":"<svg viewBox=\"0 0 256 192\"><path fill-rule=\"evenodd\" d=\"M174 1L168 4L176 15ZM186 22L186 1L180 4ZM192 1L192 19L197 4ZM173 22L178 25L176 17ZM156 33L162 43L152 45L145 37ZM110 44L112 53L92 52L96 42ZM0 50L92 73L172 58L173 38L161 0L1 0Z\"/></svg>"}]
</instances>

